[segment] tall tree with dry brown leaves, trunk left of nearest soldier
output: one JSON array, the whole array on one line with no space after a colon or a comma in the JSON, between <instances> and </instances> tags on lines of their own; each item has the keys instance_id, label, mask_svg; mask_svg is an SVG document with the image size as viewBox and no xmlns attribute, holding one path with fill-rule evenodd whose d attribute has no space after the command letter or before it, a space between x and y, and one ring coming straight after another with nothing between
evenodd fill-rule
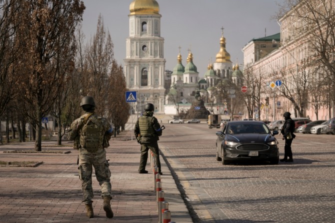
<instances>
[{"instance_id":1,"label":"tall tree with dry brown leaves, trunk left of nearest soldier","mask_svg":"<svg viewBox=\"0 0 335 223\"><path fill-rule=\"evenodd\" d=\"M72 47L74 31L81 22L85 8L79 0L26 0L20 2L19 38L25 42L20 58L21 81L24 89L22 109L35 123L35 150L41 151L41 120L61 92L65 73L59 72L60 62ZM65 66L65 64L62 64Z\"/></svg>"}]
</instances>

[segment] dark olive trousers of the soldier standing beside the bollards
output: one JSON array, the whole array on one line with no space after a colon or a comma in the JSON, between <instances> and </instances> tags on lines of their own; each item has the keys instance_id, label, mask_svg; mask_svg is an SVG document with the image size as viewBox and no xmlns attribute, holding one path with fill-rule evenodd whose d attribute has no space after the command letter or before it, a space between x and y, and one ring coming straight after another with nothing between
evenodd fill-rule
<instances>
[{"instance_id":1,"label":"dark olive trousers of the soldier standing beside the bollards","mask_svg":"<svg viewBox=\"0 0 335 223\"><path fill-rule=\"evenodd\" d=\"M153 156L156 158L156 164L158 167L158 171L161 172L160 160L159 160L159 148L158 148L157 141L141 144L141 149L140 149L141 154L140 154L138 172L145 170L145 165L147 162L147 155L148 155L147 153L149 149L152 151Z\"/></svg>"}]
</instances>

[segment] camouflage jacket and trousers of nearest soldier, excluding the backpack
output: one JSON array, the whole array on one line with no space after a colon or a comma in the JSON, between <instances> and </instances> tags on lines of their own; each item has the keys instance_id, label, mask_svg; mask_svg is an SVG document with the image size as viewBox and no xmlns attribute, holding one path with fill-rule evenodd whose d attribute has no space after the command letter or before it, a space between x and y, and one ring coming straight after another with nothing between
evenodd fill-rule
<instances>
[{"instance_id":1,"label":"camouflage jacket and trousers of nearest soldier, excluding the backpack","mask_svg":"<svg viewBox=\"0 0 335 223\"><path fill-rule=\"evenodd\" d=\"M78 161L79 161L79 178L81 180L81 187L82 187L82 193L83 193L83 201L85 204L92 203L93 198L93 188L92 188L92 165L95 169L95 176L97 181L99 182L101 186L101 196L107 196L111 198L111 184L110 184L110 170L109 170L109 164L106 160L106 150L104 147L108 147L108 142L106 143L100 143L96 145L96 151L90 152L87 149L83 148L80 143L82 136L81 128L82 128L82 122L86 115L90 113L86 112L81 117L75 119L71 127L68 131L68 138L70 140L75 140L77 143L78 148ZM93 113L91 114L88 119L90 118L96 118L101 120L102 126L100 126L101 129L101 135L104 136L104 141L108 141L112 134L112 127L108 123L108 121L98 116L97 114ZM78 140L80 138L80 140Z\"/></svg>"}]
</instances>

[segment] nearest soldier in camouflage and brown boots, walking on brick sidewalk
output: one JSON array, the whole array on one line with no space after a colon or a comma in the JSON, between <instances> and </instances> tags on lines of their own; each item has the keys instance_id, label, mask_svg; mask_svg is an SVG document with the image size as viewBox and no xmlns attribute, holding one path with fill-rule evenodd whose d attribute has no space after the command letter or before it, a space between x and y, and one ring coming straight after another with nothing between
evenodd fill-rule
<instances>
[{"instance_id":1,"label":"nearest soldier in camouflage and brown boots, walking on brick sidewalk","mask_svg":"<svg viewBox=\"0 0 335 223\"><path fill-rule=\"evenodd\" d=\"M94 113L93 97L84 96L80 106L85 113L72 122L68 138L74 140L73 147L78 149L77 164L84 198L82 202L86 206L86 216L93 217L92 166L94 166L96 179L101 186L103 209L106 216L112 218L110 170L105 148L109 146L108 140L113 129L104 117Z\"/></svg>"}]
</instances>

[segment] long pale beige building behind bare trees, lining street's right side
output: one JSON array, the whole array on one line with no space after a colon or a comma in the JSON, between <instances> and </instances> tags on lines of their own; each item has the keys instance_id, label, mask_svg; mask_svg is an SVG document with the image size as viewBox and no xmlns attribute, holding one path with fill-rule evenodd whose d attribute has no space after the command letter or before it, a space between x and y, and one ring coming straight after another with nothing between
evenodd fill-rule
<instances>
[{"instance_id":1,"label":"long pale beige building behind bare trees, lining street's right side","mask_svg":"<svg viewBox=\"0 0 335 223\"><path fill-rule=\"evenodd\" d=\"M335 3L334 0L328 3L330 1ZM308 2L315 4L312 7L314 10L333 10L327 8L330 4L322 8L318 1ZM317 36L321 35L315 34L317 29L312 29L305 20L305 9L303 4L295 5L278 20L280 33L252 39L242 48L244 74L252 73L262 81L261 120L281 119L284 111L311 120L334 116L333 101L329 100L331 93L327 93L331 88L324 84L326 79L331 78L324 71L326 69L315 44ZM328 59L331 60L330 57Z\"/></svg>"}]
</instances>

